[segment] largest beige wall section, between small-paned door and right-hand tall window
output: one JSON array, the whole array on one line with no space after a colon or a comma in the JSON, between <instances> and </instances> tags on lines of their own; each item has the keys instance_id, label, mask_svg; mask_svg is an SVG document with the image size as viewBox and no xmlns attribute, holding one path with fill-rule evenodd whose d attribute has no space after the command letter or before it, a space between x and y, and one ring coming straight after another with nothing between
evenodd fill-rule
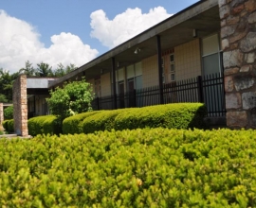
<instances>
[{"instance_id":1,"label":"largest beige wall section, between small-paned door and right-hand tall window","mask_svg":"<svg viewBox=\"0 0 256 208\"><path fill-rule=\"evenodd\" d=\"M174 47L174 57L176 80L195 78L202 74L199 39Z\"/></svg>"}]
</instances>

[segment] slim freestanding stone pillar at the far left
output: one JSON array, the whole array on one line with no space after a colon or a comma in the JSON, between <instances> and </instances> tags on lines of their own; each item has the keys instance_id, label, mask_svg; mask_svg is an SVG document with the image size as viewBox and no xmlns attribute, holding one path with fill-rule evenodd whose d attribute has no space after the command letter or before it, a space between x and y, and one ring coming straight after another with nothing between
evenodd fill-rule
<instances>
[{"instance_id":1,"label":"slim freestanding stone pillar at the far left","mask_svg":"<svg viewBox=\"0 0 256 208\"><path fill-rule=\"evenodd\" d=\"M13 118L14 131L18 135L27 136L27 77L21 75L13 83Z\"/></svg>"}]
</instances>

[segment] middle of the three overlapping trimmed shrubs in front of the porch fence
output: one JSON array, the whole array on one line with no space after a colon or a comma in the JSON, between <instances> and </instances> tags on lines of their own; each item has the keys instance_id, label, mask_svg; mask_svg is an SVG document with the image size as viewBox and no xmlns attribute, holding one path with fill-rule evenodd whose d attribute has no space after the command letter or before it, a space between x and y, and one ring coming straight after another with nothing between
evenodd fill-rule
<instances>
[{"instance_id":1,"label":"middle of the three overlapping trimmed shrubs in front of the porch fence","mask_svg":"<svg viewBox=\"0 0 256 208\"><path fill-rule=\"evenodd\" d=\"M115 118L119 113L128 112L131 109L119 109L103 111L86 117L82 122L83 132L92 133L97 130L112 130L115 126Z\"/></svg>"}]
</instances>

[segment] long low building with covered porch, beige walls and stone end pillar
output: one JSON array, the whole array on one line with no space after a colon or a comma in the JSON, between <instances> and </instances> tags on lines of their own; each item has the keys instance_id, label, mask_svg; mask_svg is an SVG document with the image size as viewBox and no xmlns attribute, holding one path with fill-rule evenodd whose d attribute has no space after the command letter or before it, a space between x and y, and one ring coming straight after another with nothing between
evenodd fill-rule
<instances>
[{"instance_id":1,"label":"long low building with covered porch, beige walls and stone end pillar","mask_svg":"<svg viewBox=\"0 0 256 208\"><path fill-rule=\"evenodd\" d=\"M85 77L94 89L96 110L199 101L210 117L228 111L231 128L256 127L251 113L256 102L247 101L256 97L255 10L255 0L199 1L48 82L45 90ZM38 94L32 95L30 107Z\"/></svg>"}]
</instances>

